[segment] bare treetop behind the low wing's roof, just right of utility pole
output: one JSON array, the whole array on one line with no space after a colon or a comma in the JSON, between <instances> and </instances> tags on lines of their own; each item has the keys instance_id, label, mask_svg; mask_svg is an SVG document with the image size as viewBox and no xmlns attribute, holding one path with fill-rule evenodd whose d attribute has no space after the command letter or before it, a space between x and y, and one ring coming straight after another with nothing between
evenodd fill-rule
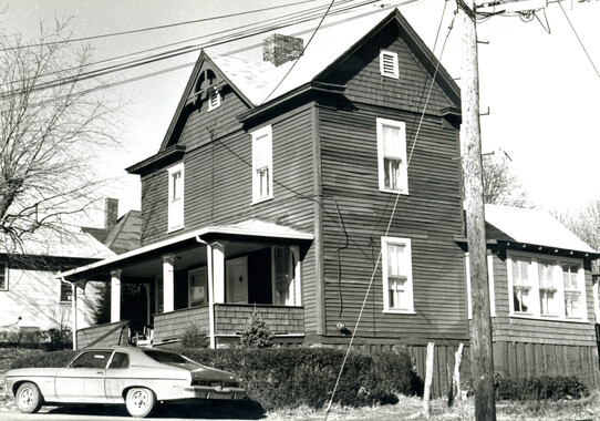
<instances>
[{"instance_id":1,"label":"bare treetop behind the low wing's roof, just right of utility pole","mask_svg":"<svg viewBox=\"0 0 600 421\"><path fill-rule=\"evenodd\" d=\"M510 158L504 151L483 156L484 202L490 205L524 207L527 194L510 171Z\"/></svg>"}]
</instances>

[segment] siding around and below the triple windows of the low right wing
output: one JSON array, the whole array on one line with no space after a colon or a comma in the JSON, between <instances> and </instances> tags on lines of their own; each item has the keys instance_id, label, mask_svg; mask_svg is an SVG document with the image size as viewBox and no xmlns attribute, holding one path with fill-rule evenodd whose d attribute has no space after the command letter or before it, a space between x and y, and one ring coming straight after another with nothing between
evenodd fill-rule
<instances>
[{"instance_id":1,"label":"siding around and below the triple windows of the low right wing","mask_svg":"<svg viewBox=\"0 0 600 421\"><path fill-rule=\"evenodd\" d=\"M492 319L494 341L546 343L552 346L596 346L591 275L586 270L586 298L589 322L510 317L506 254L494 255L494 295L496 317ZM541 256L541 255L540 255ZM581 265L583 261L581 261Z\"/></svg>"}]
</instances>

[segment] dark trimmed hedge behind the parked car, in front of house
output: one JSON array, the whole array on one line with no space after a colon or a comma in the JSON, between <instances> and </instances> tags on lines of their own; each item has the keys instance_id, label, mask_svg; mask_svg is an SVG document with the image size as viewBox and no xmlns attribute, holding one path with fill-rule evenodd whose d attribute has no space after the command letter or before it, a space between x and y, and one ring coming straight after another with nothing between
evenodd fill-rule
<instances>
[{"instance_id":1,"label":"dark trimmed hedge behind the parked car, in front of house","mask_svg":"<svg viewBox=\"0 0 600 421\"><path fill-rule=\"evenodd\" d=\"M308 405L322 408L331 399L344 352L329 348L190 349L176 351L205 366L239 376L248 397L265 410ZM29 355L11 368L64 367L75 351ZM394 393L422 394L422 381L407 353L374 356L351 352L334 402L369 405L394 402Z\"/></svg>"}]
</instances>

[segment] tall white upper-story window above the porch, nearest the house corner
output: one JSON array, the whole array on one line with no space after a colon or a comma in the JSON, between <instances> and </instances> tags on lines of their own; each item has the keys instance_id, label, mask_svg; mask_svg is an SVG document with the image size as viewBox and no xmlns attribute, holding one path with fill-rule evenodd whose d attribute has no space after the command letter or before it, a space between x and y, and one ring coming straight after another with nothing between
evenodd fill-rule
<instances>
[{"instance_id":1,"label":"tall white upper-story window above the porch, nearest the house corner","mask_svg":"<svg viewBox=\"0 0 600 421\"><path fill-rule=\"evenodd\" d=\"M252 133L252 203L273 197L272 130L268 125Z\"/></svg>"}]
</instances>

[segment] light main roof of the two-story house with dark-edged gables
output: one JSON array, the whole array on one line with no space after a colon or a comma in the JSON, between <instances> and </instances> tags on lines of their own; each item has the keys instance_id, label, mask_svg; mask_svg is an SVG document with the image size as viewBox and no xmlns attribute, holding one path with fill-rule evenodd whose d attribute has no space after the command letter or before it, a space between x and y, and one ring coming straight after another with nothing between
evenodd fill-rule
<instances>
[{"instance_id":1,"label":"light main roof of the two-story house with dark-edged gables","mask_svg":"<svg viewBox=\"0 0 600 421\"><path fill-rule=\"evenodd\" d=\"M279 66L275 66L270 62L219 54L214 50L203 50L192 71L161 150L168 145L169 137L182 111L189 102L189 99L197 94L195 86L205 62L215 65L213 70L231 85L250 109L258 111L261 106L286 95L293 95L293 92L299 88L327 75L337 64L366 43L383 27L395 21L414 55L433 75L434 69L438 64L437 59L397 9L392 12L382 10L373 13L370 11L341 21L335 19L334 17L325 18L310 44L304 45L303 54L297 61L290 61ZM459 107L461 93L458 85L443 65L438 66L437 72L437 83L443 86L446 94L456 104L456 107Z\"/></svg>"}]
</instances>

